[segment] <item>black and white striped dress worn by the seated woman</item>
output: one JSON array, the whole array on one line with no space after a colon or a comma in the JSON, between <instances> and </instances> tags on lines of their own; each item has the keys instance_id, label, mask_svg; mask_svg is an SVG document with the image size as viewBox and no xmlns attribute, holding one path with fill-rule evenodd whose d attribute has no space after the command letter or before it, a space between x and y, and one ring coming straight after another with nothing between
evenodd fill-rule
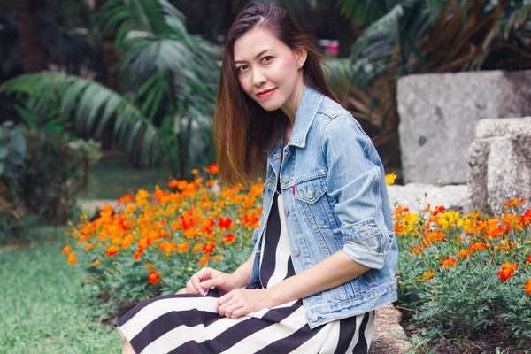
<instances>
[{"instance_id":1,"label":"black and white striped dress worn by the seated woman","mask_svg":"<svg viewBox=\"0 0 531 354\"><path fill-rule=\"evenodd\" d=\"M289 252L281 189L261 238L260 281L264 288L295 274ZM137 304L114 325L136 354L355 353L366 354L373 336L374 312L328 322L311 329L302 300L251 312L238 319L220 317L219 296L157 296Z\"/></svg>"}]
</instances>

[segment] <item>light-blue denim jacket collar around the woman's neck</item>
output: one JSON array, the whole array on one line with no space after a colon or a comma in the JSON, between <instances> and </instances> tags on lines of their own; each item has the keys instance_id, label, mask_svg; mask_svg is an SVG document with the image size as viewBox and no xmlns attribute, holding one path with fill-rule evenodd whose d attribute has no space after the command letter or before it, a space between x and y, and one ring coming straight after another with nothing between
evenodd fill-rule
<instances>
[{"instance_id":1,"label":"light-blue denim jacket collar around the woman's neck","mask_svg":"<svg viewBox=\"0 0 531 354\"><path fill-rule=\"evenodd\" d=\"M295 124L289 137L288 145L296 146L297 148L304 148L306 146L306 136L310 127L312 127L313 119L319 109L324 95L316 89L304 84L303 96L296 108ZM285 124L275 127L273 134L269 141L266 143L266 147L263 151L272 151L276 145L282 142L285 131ZM279 140L279 135L281 136ZM273 151L272 151L273 152Z\"/></svg>"}]
</instances>

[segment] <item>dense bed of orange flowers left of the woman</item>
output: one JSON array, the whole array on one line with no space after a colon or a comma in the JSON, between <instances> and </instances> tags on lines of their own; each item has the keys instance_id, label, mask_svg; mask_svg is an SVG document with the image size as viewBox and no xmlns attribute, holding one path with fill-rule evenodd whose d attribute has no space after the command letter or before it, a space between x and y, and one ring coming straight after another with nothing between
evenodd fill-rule
<instances>
[{"instance_id":1,"label":"dense bed of orange flowers left of the woman","mask_svg":"<svg viewBox=\"0 0 531 354\"><path fill-rule=\"evenodd\" d=\"M91 221L67 235L63 249L70 264L89 271L110 303L127 306L151 296L173 294L203 266L234 272L250 256L252 231L261 216L263 184L219 189L217 165L194 170L194 181L170 181L173 189L140 189L119 199L117 210L104 205Z\"/></svg>"}]
</instances>

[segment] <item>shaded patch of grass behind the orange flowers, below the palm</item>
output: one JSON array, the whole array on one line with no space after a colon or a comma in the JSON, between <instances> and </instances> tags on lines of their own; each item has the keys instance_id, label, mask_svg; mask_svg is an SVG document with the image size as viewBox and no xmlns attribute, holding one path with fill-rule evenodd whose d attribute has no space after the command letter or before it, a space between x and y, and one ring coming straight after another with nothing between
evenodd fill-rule
<instances>
[{"instance_id":1,"label":"shaded patch of grass behind the orange flowers, below the palm","mask_svg":"<svg viewBox=\"0 0 531 354\"><path fill-rule=\"evenodd\" d=\"M167 171L163 169L133 169L123 165L119 158L103 158L89 173L89 187L77 195L80 199L119 199L138 189L151 192L155 186L167 189Z\"/></svg>"}]
</instances>

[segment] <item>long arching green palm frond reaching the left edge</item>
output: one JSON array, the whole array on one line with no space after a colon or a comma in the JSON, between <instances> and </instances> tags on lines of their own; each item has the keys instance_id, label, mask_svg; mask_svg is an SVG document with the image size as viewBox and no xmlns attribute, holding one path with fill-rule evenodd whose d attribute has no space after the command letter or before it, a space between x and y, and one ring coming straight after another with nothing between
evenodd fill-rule
<instances>
[{"instance_id":1,"label":"long arching green palm frond reaching the left edge","mask_svg":"<svg viewBox=\"0 0 531 354\"><path fill-rule=\"evenodd\" d=\"M64 120L73 116L73 125L81 134L99 135L114 116L113 131L119 146L129 153L142 148L142 161L148 165L157 162L159 141L156 128L133 102L97 82L42 72L6 81L0 90L16 93L19 97L27 96L27 108L33 112L46 113L60 107L58 116ZM135 146L133 142L140 142L141 146Z\"/></svg>"}]
</instances>

